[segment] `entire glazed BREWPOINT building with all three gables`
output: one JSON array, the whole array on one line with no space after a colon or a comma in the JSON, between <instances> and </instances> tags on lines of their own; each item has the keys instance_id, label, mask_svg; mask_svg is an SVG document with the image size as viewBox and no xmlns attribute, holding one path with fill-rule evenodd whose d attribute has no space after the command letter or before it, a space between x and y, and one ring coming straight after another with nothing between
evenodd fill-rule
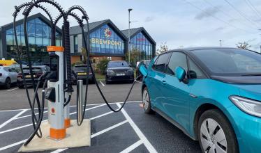
<instances>
[{"instance_id":1,"label":"entire glazed BREWPOINT building with all three gables","mask_svg":"<svg viewBox=\"0 0 261 153\"><path fill-rule=\"evenodd\" d=\"M16 24L18 44L25 53L23 19ZM29 40L29 51L31 51L33 63L45 64L48 62L47 46L50 45L51 22L40 13L28 17L27 33ZM105 19L89 24L91 61L98 63L102 58L109 58L112 61L124 60L130 51L136 51L136 60L151 59L156 54L156 42L151 38L144 28L130 29L130 46L128 45L128 30L119 30L110 20ZM61 29L56 27L56 45L61 46ZM17 51L13 23L6 24L0 28L0 59L15 58ZM84 26L84 35L87 38L87 26ZM84 40L80 26L70 27L70 53L72 63L82 61ZM22 56L26 57L26 56ZM127 60L127 59L126 59ZM26 59L24 59L26 61ZM128 61L128 60L127 60Z\"/></svg>"}]
</instances>

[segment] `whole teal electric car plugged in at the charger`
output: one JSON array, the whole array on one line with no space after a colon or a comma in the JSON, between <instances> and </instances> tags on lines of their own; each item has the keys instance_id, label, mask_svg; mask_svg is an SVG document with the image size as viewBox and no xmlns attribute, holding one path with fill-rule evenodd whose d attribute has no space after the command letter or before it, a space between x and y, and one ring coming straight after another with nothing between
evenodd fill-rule
<instances>
[{"instance_id":1,"label":"whole teal electric car plugged in at the charger","mask_svg":"<svg viewBox=\"0 0 261 153\"><path fill-rule=\"evenodd\" d=\"M200 47L141 66L145 113L156 111L202 152L261 152L261 54Z\"/></svg>"}]
</instances>

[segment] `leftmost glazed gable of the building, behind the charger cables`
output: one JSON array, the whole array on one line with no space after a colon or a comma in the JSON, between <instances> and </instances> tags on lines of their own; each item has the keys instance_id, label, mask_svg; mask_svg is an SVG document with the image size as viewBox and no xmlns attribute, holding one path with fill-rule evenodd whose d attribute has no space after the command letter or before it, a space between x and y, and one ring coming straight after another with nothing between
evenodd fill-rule
<instances>
[{"instance_id":1,"label":"leftmost glazed gable of the building, behind the charger cables","mask_svg":"<svg viewBox=\"0 0 261 153\"><path fill-rule=\"evenodd\" d=\"M24 42L24 26L23 19L17 21L16 31L18 45L22 48L22 52L25 53ZM33 63L47 63L47 46L51 42L51 28L50 20L40 13L28 17L27 22L27 35L29 42L29 51L31 51ZM61 46L61 29L56 28L56 44ZM0 37L0 58L17 59L17 51L15 47L15 36L13 31L13 23L1 26ZM25 56L22 55L22 58Z\"/></svg>"}]
</instances>

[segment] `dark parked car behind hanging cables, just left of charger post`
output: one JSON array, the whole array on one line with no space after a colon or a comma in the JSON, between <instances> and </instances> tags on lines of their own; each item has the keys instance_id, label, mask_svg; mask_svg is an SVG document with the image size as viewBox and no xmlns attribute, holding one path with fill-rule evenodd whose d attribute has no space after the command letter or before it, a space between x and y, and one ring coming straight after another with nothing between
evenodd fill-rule
<instances>
[{"instance_id":1,"label":"dark parked car behind hanging cables, just left of charger post","mask_svg":"<svg viewBox=\"0 0 261 153\"><path fill-rule=\"evenodd\" d=\"M50 67L45 66L45 65L40 65L40 66L32 66L33 70L33 79L36 83L38 83L38 78L43 75L45 72L50 71ZM29 72L29 67L24 67L24 77L25 80L27 81L27 86L32 86L33 85L33 79L31 79L31 74ZM24 78L22 78L22 73L20 72L17 76L17 86L18 88L24 88ZM40 86L43 86L43 82L40 83Z\"/></svg>"}]
</instances>

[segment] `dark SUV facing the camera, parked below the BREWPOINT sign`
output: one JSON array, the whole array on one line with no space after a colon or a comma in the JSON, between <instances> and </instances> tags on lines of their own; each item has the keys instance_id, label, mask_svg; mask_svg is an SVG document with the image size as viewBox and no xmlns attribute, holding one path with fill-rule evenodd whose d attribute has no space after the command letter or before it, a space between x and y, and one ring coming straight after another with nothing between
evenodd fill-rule
<instances>
[{"instance_id":1,"label":"dark SUV facing the camera, parked below the BREWPOINT sign","mask_svg":"<svg viewBox=\"0 0 261 153\"><path fill-rule=\"evenodd\" d=\"M128 65L126 61L110 61L107 64L105 82L112 81L134 81L133 68Z\"/></svg>"}]
</instances>

